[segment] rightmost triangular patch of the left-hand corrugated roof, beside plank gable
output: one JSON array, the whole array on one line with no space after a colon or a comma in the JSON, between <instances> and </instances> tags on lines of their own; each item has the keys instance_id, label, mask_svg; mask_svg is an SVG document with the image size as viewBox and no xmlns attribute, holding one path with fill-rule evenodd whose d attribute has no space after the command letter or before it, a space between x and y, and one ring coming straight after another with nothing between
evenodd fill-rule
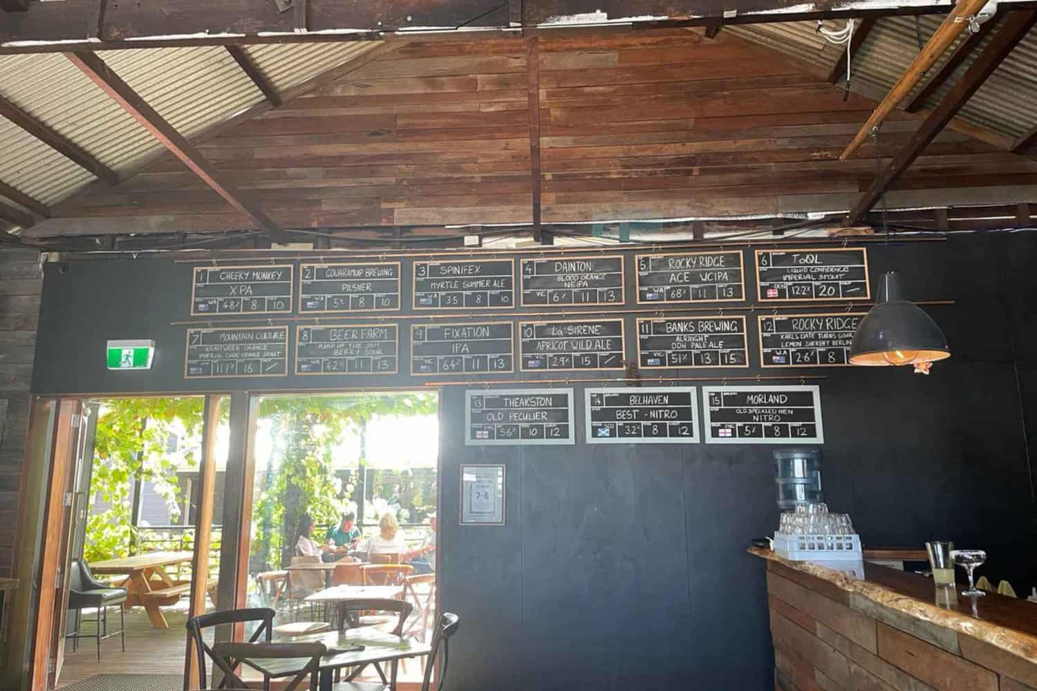
<instances>
[{"instance_id":1,"label":"rightmost triangular patch of the left-hand corrugated roof, beside plank gable","mask_svg":"<svg viewBox=\"0 0 1037 691\"><path fill-rule=\"evenodd\" d=\"M278 91L287 91L310 77L337 67L377 48L377 41L349 44L267 44L245 49Z\"/></svg>"}]
</instances>

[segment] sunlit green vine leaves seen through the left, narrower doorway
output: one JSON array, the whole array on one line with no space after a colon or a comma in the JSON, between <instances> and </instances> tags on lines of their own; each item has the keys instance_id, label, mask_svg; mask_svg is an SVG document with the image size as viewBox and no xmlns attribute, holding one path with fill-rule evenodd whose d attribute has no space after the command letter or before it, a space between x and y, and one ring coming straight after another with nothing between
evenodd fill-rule
<instances>
[{"instance_id":1,"label":"sunlit green vine leaves seen through the left, narrower doorway","mask_svg":"<svg viewBox=\"0 0 1037 691\"><path fill-rule=\"evenodd\" d=\"M184 426L187 437L200 436L202 398L137 398L105 401L97 419L93 448L90 498L108 505L86 522L84 557L87 562L125 556L135 536L131 524L133 486L137 479L153 483L170 512L179 513L180 490L176 458L166 452L169 435ZM197 464L194 452L180 458Z\"/></svg>"}]
</instances>

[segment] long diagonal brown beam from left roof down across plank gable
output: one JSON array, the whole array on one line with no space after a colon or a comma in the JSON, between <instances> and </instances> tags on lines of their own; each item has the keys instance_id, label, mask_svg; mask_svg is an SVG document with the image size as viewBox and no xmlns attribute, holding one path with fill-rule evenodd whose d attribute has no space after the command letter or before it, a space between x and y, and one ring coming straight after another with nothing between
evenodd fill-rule
<instances>
[{"instance_id":1,"label":"long diagonal brown beam from left roof down across plank gable","mask_svg":"<svg viewBox=\"0 0 1037 691\"><path fill-rule=\"evenodd\" d=\"M223 173L206 161L184 135L176 132L97 55L66 53L65 57L231 206L247 214L275 239L285 238L284 232L253 201L230 184Z\"/></svg>"}]
</instances>

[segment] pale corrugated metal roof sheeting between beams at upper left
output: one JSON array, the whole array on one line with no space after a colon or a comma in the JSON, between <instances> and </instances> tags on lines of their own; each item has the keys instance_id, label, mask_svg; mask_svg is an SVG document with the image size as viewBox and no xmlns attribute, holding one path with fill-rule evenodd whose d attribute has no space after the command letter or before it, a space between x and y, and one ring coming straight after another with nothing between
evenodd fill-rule
<instances>
[{"instance_id":1,"label":"pale corrugated metal roof sheeting between beams at upper left","mask_svg":"<svg viewBox=\"0 0 1037 691\"><path fill-rule=\"evenodd\" d=\"M275 88L284 91L376 46L271 45L251 47L248 53ZM220 47L101 51L99 56L188 138L263 98ZM60 54L0 56L0 95L122 174L163 149ZM0 151L0 180L45 204L56 204L94 179L2 117Z\"/></svg>"}]
</instances>

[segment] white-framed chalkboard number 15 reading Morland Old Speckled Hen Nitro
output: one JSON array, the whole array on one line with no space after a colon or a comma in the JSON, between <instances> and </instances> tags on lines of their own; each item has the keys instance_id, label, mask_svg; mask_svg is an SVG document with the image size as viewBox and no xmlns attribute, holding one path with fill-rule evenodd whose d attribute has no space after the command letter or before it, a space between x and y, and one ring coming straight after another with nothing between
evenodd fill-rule
<instances>
[{"instance_id":1,"label":"white-framed chalkboard number 15 reading Morland Old Speckled Hen Nitro","mask_svg":"<svg viewBox=\"0 0 1037 691\"><path fill-rule=\"evenodd\" d=\"M816 385L703 386L706 443L823 443Z\"/></svg>"}]
</instances>

